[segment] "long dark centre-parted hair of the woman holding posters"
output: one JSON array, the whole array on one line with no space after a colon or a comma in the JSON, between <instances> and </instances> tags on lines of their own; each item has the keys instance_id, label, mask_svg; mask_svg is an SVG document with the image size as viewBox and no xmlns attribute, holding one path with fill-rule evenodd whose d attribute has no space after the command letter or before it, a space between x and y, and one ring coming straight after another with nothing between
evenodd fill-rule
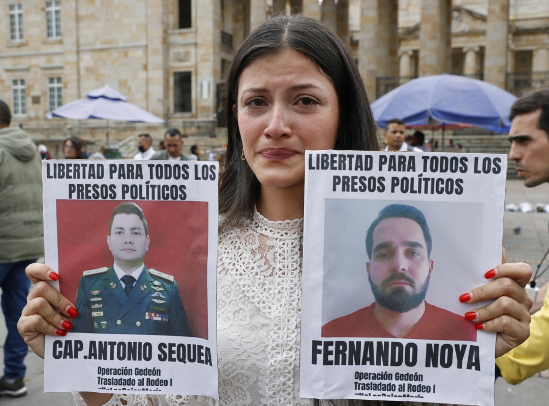
<instances>
[{"instance_id":1,"label":"long dark centre-parted hair of the woman holding posters","mask_svg":"<svg viewBox=\"0 0 549 406\"><path fill-rule=\"evenodd\" d=\"M265 21L240 45L227 77L227 154L221 175L219 211L225 214L220 233L246 224L254 213L260 184L242 161L242 139L233 106L244 68L264 55L294 49L309 57L332 81L339 100L339 129L335 149L378 151L377 128L360 72L345 43L321 22L303 15Z\"/></svg>"}]
</instances>

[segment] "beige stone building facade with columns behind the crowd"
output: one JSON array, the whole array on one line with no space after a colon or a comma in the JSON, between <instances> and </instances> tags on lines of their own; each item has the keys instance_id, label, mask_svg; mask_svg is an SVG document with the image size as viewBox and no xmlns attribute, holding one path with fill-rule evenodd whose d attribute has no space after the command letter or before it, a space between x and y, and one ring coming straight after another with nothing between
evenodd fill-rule
<instances>
[{"instance_id":1,"label":"beige stone building facade with columns behind the crowd","mask_svg":"<svg viewBox=\"0 0 549 406\"><path fill-rule=\"evenodd\" d=\"M337 31L372 99L443 72L515 93L549 86L545 0L0 0L0 10L0 98L14 125L51 144L69 135L104 141L104 121L45 114L109 84L166 120L110 123L111 139L149 132L158 140L177 127L186 144L222 146L232 52L283 12L305 12Z\"/></svg>"}]
</instances>

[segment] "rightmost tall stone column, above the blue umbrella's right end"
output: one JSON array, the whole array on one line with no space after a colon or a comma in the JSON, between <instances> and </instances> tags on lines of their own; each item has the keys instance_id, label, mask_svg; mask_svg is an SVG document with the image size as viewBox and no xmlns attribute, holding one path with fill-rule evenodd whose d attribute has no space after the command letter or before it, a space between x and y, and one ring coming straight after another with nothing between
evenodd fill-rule
<instances>
[{"instance_id":1,"label":"rightmost tall stone column, above the blue umbrella's right end","mask_svg":"<svg viewBox=\"0 0 549 406\"><path fill-rule=\"evenodd\" d=\"M509 0L488 0L484 80L505 89Z\"/></svg>"}]
</instances>

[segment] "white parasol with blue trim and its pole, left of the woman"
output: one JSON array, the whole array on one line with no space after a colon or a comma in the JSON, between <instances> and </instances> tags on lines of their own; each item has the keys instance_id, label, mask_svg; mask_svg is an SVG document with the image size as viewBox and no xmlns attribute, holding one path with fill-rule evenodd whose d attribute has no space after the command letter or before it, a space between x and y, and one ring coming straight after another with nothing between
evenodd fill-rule
<instances>
[{"instance_id":1,"label":"white parasol with blue trim and its pole, left of the woman","mask_svg":"<svg viewBox=\"0 0 549 406\"><path fill-rule=\"evenodd\" d=\"M47 118L62 117L72 120L96 118L107 120L107 145L109 143L109 120L164 123L160 117L127 102L128 98L115 89L104 85L86 93L85 99L70 102L46 114Z\"/></svg>"}]
</instances>

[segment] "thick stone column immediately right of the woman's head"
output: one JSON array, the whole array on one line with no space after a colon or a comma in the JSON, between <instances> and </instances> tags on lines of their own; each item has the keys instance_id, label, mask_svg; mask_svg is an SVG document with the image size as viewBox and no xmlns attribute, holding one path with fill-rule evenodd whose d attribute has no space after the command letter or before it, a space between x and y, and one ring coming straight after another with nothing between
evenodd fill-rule
<instances>
[{"instance_id":1,"label":"thick stone column immediately right of the woman's head","mask_svg":"<svg viewBox=\"0 0 549 406\"><path fill-rule=\"evenodd\" d=\"M376 78L397 76L398 0L362 0L358 67L368 95L376 98Z\"/></svg>"}]
</instances>

